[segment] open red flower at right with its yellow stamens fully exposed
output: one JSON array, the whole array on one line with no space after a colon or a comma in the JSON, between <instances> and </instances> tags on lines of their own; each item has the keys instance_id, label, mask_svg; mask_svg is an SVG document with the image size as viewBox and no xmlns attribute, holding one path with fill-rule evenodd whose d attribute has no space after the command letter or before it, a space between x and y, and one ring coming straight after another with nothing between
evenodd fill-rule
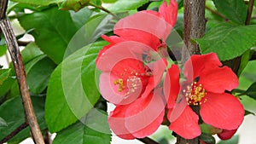
<instances>
[{"instance_id":1,"label":"open red flower at right with its yellow stamens fully exposed","mask_svg":"<svg viewBox=\"0 0 256 144\"><path fill-rule=\"evenodd\" d=\"M186 139L201 135L198 116L191 109L200 106L200 116L206 124L221 130L236 130L243 121L244 109L234 95L225 90L238 86L236 74L227 66L222 66L218 56L192 55L184 65L187 78L179 84L178 67L168 69L164 82L170 130Z\"/></svg>"}]
</instances>

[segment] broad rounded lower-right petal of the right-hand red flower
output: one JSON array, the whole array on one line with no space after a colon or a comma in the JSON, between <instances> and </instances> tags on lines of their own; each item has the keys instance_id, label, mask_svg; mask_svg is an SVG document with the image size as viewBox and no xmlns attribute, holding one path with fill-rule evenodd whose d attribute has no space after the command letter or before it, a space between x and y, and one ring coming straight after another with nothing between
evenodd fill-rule
<instances>
[{"instance_id":1,"label":"broad rounded lower-right petal of the right-hand red flower","mask_svg":"<svg viewBox=\"0 0 256 144\"><path fill-rule=\"evenodd\" d=\"M201 104L200 114L206 124L222 130L239 127L243 121L244 108L234 95L208 92L205 98L207 101Z\"/></svg>"}]
</instances>

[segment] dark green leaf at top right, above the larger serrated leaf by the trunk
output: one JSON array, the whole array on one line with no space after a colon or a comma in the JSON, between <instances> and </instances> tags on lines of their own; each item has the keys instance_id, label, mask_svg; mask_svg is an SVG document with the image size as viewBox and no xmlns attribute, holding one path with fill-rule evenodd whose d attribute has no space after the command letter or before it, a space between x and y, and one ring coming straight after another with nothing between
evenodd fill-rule
<instances>
[{"instance_id":1,"label":"dark green leaf at top right, above the larger serrated leaf by the trunk","mask_svg":"<svg viewBox=\"0 0 256 144\"><path fill-rule=\"evenodd\" d=\"M244 25L247 17L247 6L243 0L213 0L213 2L221 14L238 24Z\"/></svg>"}]
</instances>

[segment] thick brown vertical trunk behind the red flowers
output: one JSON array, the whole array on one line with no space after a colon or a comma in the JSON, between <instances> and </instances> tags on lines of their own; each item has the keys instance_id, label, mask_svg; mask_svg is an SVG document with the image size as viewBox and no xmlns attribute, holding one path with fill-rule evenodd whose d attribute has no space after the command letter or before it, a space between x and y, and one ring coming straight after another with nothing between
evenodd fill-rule
<instances>
[{"instance_id":1,"label":"thick brown vertical trunk behind the red flowers","mask_svg":"<svg viewBox=\"0 0 256 144\"><path fill-rule=\"evenodd\" d=\"M205 19L205 0L184 0L184 33L183 33L183 49L182 63L189 60L190 55L200 54L199 45L192 43L192 38L202 37L206 29ZM199 108L192 107L199 115ZM187 140L177 135L177 144L198 144L199 137Z\"/></svg>"}]
</instances>

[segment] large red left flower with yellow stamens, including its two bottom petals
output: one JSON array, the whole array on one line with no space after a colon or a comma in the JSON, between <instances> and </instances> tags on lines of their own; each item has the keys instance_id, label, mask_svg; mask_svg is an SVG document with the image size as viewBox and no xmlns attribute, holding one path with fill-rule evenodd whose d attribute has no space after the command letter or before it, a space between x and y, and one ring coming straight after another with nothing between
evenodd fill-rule
<instances>
[{"instance_id":1,"label":"large red left flower with yellow stamens, including its two bottom petals","mask_svg":"<svg viewBox=\"0 0 256 144\"><path fill-rule=\"evenodd\" d=\"M163 120L163 96L154 89L160 84L166 60L159 59L145 65L143 51L148 49L147 45L134 41L117 43L96 64L102 71L101 94L116 105L109 115L108 124L124 139L150 135Z\"/></svg>"}]
</instances>

